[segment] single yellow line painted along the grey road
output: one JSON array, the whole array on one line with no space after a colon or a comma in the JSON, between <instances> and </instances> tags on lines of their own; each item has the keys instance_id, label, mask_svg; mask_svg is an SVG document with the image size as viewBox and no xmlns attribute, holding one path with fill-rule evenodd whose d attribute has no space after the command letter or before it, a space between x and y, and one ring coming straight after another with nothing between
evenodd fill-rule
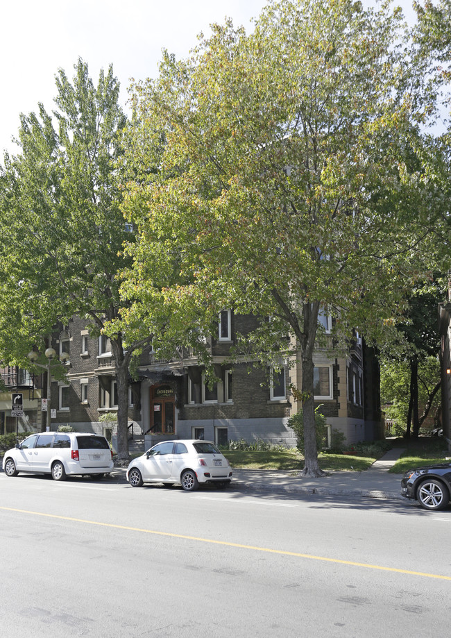
<instances>
[{"instance_id":1,"label":"single yellow line painted along the grey road","mask_svg":"<svg viewBox=\"0 0 451 638\"><path fill-rule=\"evenodd\" d=\"M310 560L321 560L323 562L337 563L341 565L351 565L354 567L365 567L366 569L379 569L380 571L392 571L395 573L405 573L410 576L423 576L425 578L439 578L440 580L451 580L451 576L441 576L436 573L425 573L423 571L410 571L409 569L397 569L395 567L384 567L382 565L371 565L368 563L359 563L353 560L340 560L339 558L327 558L325 556L314 556L312 554L303 554L299 552L289 552L282 549L271 549L268 547L259 547L255 545L243 545L241 543L229 543L227 541L216 541L209 538L201 538L197 536L187 536L185 534L174 534L173 532L158 532L156 530L145 530L137 527L130 527L127 525L117 525L116 523L101 523L99 521L87 521L85 519L75 519L73 517L64 517L58 514L46 514L45 512L32 512L31 510L19 510L16 507L1 507L0 510L6 510L7 512L19 512L21 514L33 514L33 516L40 516L49 519L59 519L60 521L73 521L74 523L85 523L87 525L96 525L99 527L109 527L117 530L128 530L130 532L142 532L144 534L153 534L155 536L166 536L170 538L181 538L189 541L196 541L199 543L210 543L213 545L223 545L226 547L238 547L241 549L251 549L253 551L266 552L271 554L278 554L283 556L295 556L298 558L309 558Z\"/></svg>"}]
</instances>

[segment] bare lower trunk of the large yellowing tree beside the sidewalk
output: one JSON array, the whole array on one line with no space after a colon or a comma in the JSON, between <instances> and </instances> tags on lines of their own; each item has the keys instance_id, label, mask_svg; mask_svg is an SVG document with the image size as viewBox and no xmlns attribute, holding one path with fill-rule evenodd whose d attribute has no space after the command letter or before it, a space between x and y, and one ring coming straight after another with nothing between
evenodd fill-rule
<instances>
[{"instance_id":1,"label":"bare lower trunk of the large yellowing tree beside the sidewalk","mask_svg":"<svg viewBox=\"0 0 451 638\"><path fill-rule=\"evenodd\" d=\"M315 408L313 391L313 358L305 355L302 358L302 396L304 417L304 446L305 460L303 476L325 476L325 472L318 465L318 450L316 448Z\"/></svg>"}]
</instances>

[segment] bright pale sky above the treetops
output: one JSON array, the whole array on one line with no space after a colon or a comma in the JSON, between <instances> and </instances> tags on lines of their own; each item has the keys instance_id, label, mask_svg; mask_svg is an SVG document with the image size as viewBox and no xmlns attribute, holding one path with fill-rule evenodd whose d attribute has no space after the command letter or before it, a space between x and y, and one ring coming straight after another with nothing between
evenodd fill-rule
<instances>
[{"instance_id":1,"label":"bright pale sky above the treetops","mask_svg":"<svg viewBox=\"0 0 451 638\"><path fill-rule=\"evenodd\" d=\"M373 3L366 0L365 3ZM398 0L411 6L409 0ZM58 68L73 75L78 57L96 80L99 69L113 64L121 82L121 101L129 79L154 77L162 48L185 57L196 35L212 22L230 16L250 28L266 0L13 0L3 3L0 24L0 158L3 149L17 151L20 112L37 110L42 101L53 108Z\"/></svg>"}]
</instances>

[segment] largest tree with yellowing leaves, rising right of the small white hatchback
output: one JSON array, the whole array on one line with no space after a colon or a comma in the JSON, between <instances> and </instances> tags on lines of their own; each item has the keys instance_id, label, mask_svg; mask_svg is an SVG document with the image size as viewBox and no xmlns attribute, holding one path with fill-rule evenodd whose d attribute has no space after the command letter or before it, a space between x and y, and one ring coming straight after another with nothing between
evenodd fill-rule
<instances>
[{"instance_id":1,"label":"largest tree with yellowing leaves, rising right of the small white hatchback","mask_svg":"<svg viewBox=\"0 0 451 638\"><path fill-rule=\"evenodd\" d=\"M273 318L246 336L248 357L280 361L293 335L309 475L321 474L318 312L337 319L336 338L352 328L382 338L438 229L416 128L421 84L395 45L401 30L398 10L386 6L273 1L251 35L230 21L214 25L191 58L165 55L160 77L133 95L131 147L144 167L155 153L160 161L158 175L130 185L126 210L139 237L124 289L146 298L142 274L160 246L194 284L168 298ZM137 304L130 317L143 310Z\"/></svg>"}]
</instances>

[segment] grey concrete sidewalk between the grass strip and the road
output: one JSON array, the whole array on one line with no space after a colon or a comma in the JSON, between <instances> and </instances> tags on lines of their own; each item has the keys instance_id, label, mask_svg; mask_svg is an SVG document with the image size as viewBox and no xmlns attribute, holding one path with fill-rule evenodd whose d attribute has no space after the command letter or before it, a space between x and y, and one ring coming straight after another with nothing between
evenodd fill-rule
<instances>
[{"instance_id":1,"label":"grey concrete sidewalk between the grass strip and the road","mask_svg":"<svg viewBox=\"0 0 451 638\"><path fill-rule=\"evenodd\" d=\"M402 499L401 475L390 474L388 470L403 451L404 448L391 449L368 470L328 472L327 476L322 478L298 476L292 471L234 469L232 488L246 492ZM125 471L125 468L115 467L112 476L125 479Z\"/></svg>"}]
</instances>

